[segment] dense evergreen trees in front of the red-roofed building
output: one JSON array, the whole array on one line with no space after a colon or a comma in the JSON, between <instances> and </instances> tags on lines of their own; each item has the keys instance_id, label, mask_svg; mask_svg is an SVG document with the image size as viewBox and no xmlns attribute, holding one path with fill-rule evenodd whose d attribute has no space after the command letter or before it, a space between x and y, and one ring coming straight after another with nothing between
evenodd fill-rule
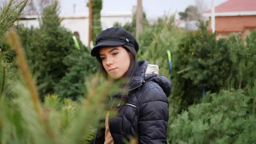
<instances>
[{"instance_id":1,"label":"dense evergreen trees in front of the red-roofed building","mask_svg":"<svg viewBox=\"0 0 256 144\"><path fill-rule=\"evenodd\" d=\"M179 101L177 112L200 102L203 90L244 89L256 79L256 30L245 44L237 35L217 40L215 33L207 32L207 23L198 26L200 30L188 33L174 53L172 99Z\"/></svg>"}]
</instances>

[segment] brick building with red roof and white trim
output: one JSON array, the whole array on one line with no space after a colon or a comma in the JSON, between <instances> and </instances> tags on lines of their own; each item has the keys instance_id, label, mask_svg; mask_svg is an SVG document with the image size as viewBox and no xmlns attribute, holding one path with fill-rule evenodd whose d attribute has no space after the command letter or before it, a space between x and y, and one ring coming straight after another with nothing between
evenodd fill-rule
<instances>
[{"instance_id":1,"label":"brick building with red roof and white trim","mask_svg":"<svg viewBox=\"0 0 256 144\"><path fill-rule=\"evenodd\" d=\"M203 13L210 17L211 10ZM211 20L209 28L211 29ZM227 0L215 7L215 31L217 38L230 33L248 35L256 28L256 0Z\"/></svg>"}]
</instances>

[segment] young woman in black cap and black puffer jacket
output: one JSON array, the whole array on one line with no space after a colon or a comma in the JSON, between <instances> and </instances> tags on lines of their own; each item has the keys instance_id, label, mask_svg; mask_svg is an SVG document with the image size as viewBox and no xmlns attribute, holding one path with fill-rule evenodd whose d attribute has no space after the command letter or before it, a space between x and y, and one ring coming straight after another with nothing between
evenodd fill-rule
<instances>
[{"instance_id":1,"label":"young woman in black cap and black puffer jacket","mask_svg":"<svg viewBox=\"0 0 256 144\"><path fill-rule=\"evenodd\" d=\"M128 31L112 27L96 38L91 55L100 63L99 70L112 79L128 79L128 93L111 96L118 113L105 118L105 129L95 136L95 144L123 144L138 137L139 144L166 144L168 100L172 84L158 75L158 66L146 60L137 62L139 45ZM123 99L124 104L115 103Z\"/></svg>"}]
</instances>

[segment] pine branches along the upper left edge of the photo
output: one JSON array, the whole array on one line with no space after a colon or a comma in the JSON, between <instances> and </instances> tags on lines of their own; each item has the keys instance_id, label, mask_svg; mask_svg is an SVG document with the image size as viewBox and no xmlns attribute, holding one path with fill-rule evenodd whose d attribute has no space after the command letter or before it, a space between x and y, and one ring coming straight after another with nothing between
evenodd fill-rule
<instances>
[{"instance_id":1,"label":"pine branches along the upper left edge of the photo","mask_svg":"<svg viewBox=\"0 0 256 144\"><path fill-rule=\"evenodd\" d=\"M0 8L0 94L11 98L15 94L13 80L16 79L15 51L5 43L8 30L19 20L28 0L10 0Z\"/></svg>"}]
</instances>

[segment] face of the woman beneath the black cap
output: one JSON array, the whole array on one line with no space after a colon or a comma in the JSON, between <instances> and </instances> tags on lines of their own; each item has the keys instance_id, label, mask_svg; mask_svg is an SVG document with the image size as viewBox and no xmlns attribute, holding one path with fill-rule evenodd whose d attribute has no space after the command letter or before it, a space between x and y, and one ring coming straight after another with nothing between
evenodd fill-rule
<instances>
[{"instance_id":1,"label":"face of the woman beneath the black cap","mask_svg":"<svg viewBox=\"0 0 256 144\"><path fill-rule=\"evenodd\" d=\"M130 53L122 46L103 47L99 50L99 56L104 69L113 79L121 78L129 68Z\"/></svg>"}]
</instances>

